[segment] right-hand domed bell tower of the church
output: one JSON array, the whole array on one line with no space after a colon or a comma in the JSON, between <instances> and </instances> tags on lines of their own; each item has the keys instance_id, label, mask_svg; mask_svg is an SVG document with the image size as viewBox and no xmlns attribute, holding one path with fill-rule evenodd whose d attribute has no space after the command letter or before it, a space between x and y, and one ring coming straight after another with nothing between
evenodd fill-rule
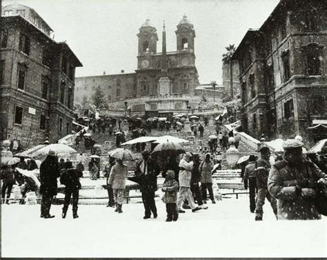
<instances>
[{"instance_id":1,"label":"right-hand domed bell tower of the church","mask_svg":"<svg viewBox=\"0 0 327 260\"><path fill-rule=\"evenodd\" d=\"M195 30L186 14L177 25L177 52L194 52Z\"/></svg>"}]
</instances>

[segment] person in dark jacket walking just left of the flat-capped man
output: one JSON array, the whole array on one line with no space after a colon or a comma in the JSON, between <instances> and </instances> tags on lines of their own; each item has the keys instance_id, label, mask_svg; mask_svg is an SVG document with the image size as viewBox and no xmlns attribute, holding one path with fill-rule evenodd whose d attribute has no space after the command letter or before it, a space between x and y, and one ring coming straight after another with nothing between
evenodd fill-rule
<instances>
[{"instance_id":1,"label":"person in dark jacket walking just left of the flat-capped man","mask_svg":"<svg viewBox=\"0 0 327 260\"><path fill-rule=\"evenodd\" d=\"M268 192L268 175L270 171L270 149L267 146L260 148L261 157L255 163L255 174L257 176L257 204L255 206L255 220L262 220L264 215L264 202L266 198L270 202L271 208L277 217L277 201Z\"/></svg>"}]
</instances>

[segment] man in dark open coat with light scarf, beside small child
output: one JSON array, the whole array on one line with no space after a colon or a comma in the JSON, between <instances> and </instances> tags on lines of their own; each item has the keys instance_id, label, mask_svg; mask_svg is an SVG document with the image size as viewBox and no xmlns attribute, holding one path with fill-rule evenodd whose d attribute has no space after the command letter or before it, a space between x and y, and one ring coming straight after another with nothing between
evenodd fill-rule
<instances>
[{"instance_id":1,"label":"man in dark open coat with light scarf, beside small child","mask_svg":"<svg viewBox=\"0 0 327 260\"><path fill-rule=\"evenodd\" d=\"M142 152L142 156L143 161L137 165L135 175L141 177L139 184L145 209L143 219L150 219L151 212L156 219L158 214L155 206L155 191L157 190L157 176L160 173L160 168L157 161L150 157L149 151Z\"/></svg>"}]
</instances>

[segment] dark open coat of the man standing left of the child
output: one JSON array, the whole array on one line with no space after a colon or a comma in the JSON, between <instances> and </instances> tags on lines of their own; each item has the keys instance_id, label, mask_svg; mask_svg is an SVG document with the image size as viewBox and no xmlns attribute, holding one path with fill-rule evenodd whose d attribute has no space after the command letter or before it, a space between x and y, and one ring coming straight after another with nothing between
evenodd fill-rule
<instances>
[{"instance_id":1,"label":"dark open coat of the man standing left of the child","mask_svg":"<svg viewBox=\"0 0 327 260\"><path fill-rule=\"evenodd\" d=\"M144 172L144 163L146 163L147 172ZM141 192L154 192L157 187L157 176L160 173L160 168L157 161L148 159L148 161L141 161L137 164L135 175L141 177L140 190Z\"/></svg>"}]
</instances>

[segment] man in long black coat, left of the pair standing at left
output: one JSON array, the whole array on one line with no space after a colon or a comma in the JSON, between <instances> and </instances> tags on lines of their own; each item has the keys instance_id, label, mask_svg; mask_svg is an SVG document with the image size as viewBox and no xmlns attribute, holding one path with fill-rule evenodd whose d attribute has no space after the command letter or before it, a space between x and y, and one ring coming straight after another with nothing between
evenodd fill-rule
<instances>
[{"instance_id":1,"label":"man in long black coat, left of the pair standing at left","mask_svg":"<svg viewBox=\"0 0 327 260\"><path fill-rule=\"evenodd\" d=\"M58 157L54 151L50 150L48 156L40 166L41 217L45 219L54 217L50 215L50 208L52 197L57 195L57 178L59 176Z\"/></svg>"}]
</instances>

